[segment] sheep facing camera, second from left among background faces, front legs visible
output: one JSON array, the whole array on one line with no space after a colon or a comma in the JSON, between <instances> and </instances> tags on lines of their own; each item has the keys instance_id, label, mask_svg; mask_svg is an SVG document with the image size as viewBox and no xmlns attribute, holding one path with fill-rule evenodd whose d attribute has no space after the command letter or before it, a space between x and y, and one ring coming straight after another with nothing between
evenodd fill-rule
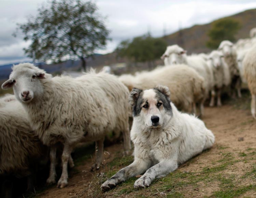
<instances>
[{"instance_id":1,"label":"sheep facing camera, second from left among background faces, front legs visible","mask_svg":"<svg viewBox=\"0 0 256 198\"><path fill-rule=\"evenodd\" d=\"M213 70L214 87L217 92L217 106L221 106L221 92L224 86L230 84L230 72L229 68L224 61L224 55L222 52L214 50L208 57L208 64ZM215 91L211 93L210 106L214 106Z\"/></svg>"}]
</instances>

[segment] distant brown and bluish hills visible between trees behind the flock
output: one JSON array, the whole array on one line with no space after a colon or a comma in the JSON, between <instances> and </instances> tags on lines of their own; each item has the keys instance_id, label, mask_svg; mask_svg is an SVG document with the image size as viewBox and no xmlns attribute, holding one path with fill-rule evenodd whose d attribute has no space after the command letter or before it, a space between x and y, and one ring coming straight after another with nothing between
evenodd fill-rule
<instances>
[{"instance_id":1,"label":"distant brown and bluish hills visible between trees behind the flock","mask_svg":"<svg viewBox=\"0 0 256 198\"><path fill-rule=\"evenodd\" d=\"M256 9L246 10L244 12L240 12L238 14L227 16L232 19L236 19L241 24L241 29L236 35L236 38L247 38L249 37L249 31L256 27ZM226 17L224 17L226 18ZM214 21L212 21L214 22ZM203 25L194 25L190 28L182 29L181 31L174 32L170 35L163 37L166 40L168 45L179 44L181 47L187 50L188 54L191 53L201 53L201 52L210 52L205 44L209 39L207 36L207 32L211 28L211 23L203 24ZM129 60L125 58L117 58L116 52L109 54L94 54L93 57L87 59L87 67L93 68L101 68L104 65L114 65L118 63L126 63L130 64ZM163 61L156 60L156 64L163 64ZM9 78L11 72L11 66L13 64L0 66L0 80ZM79 70L81 63L80 61L65 61L59 64L50 64L46 65L44 63L39 63L38 66L45 69L49 73L58 73L63 70ZM139 63L138 66L147 68L145 63ZM134 68L137 70L138 68Z\"/></svg>"}]
</instances>

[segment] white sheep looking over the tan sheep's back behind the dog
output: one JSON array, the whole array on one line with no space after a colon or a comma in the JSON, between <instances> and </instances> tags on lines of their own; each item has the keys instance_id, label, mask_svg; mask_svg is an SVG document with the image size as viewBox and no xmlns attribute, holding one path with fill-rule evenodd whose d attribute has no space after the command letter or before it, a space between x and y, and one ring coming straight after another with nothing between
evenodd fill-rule
<instances>
[{"instance_id":1,"label":"white sheep looking over the tan sheep's back behind the dog","mask_svg":"<svg viewBox=\"0 0 256 198\"><path fill-rule=\"evenodd\" d=\"M167 47L161 58L164 58L165 65L186 64L194 68L204 78L205 99L208 98L209 92L213 89L213 73L205 61L205 55L187 56L183 48L172 45Z\"/></svg>"}]
</instances>

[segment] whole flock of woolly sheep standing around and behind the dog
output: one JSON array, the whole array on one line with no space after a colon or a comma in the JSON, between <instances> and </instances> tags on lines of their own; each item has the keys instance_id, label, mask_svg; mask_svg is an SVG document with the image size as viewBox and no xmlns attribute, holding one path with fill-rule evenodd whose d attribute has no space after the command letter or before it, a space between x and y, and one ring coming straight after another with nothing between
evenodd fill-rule
<instances>
[{"instance_id":1,"label":"whole flock of woolly sheep standing around and behind the dog","mask_svg":"<svg viewBox=\"0 0 256 198\"><path fill-rule=\"evenodd\" d=\"M187 55L168 46L162 55L165 66L135 75L115 77L106 71L90 71L78 78L52 77L30 63L15 65L3 89L14 95L0 98L0 176L27 177L34 162L48 155L51 162L47 183L55 183L57 150L62 150L62 174L57 187L68 184L71 152L79 142L96 142L96 163L103 161L103 141L109 132L123 133L125 154L131 149L128 103L133 87L150 89L158 84L170 89L170 99L180 111L204 113L204 103L221 106L221 94L241 97L242 82L252 94L251 112L256 109L256 28L251 38L236 44L224 40L210 54ZM61 143L63 147L59 147ZM37 159L37 160L35 160ZM46 158L47 160L47 158ZM4 189L5 182L2 182ZM31 188L32 184L28 184ZM0 195L1 196L1 195Z\"/></svg>"}]
</instances>

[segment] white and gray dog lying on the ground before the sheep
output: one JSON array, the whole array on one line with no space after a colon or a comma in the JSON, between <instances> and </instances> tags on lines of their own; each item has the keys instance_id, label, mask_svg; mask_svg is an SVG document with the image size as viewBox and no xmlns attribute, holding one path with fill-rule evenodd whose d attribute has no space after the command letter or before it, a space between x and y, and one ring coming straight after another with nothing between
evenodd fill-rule
<instances>
[{"instance_id":1,"label":"white and gray dog lying on the ground before the sheep","mask_svg":"<svg viewBox=\"0 0 256 198\"><path fill-rule=\"evenodd\" d=\"M155 178L166 176L213 145L214 135L203 121L179 112L169 98L166 86L144 91L133 88L129 101L133 109L134 162L105 181L102 191L143 173L134 188L149 186Z\"/></svg>"}]
</instances>

